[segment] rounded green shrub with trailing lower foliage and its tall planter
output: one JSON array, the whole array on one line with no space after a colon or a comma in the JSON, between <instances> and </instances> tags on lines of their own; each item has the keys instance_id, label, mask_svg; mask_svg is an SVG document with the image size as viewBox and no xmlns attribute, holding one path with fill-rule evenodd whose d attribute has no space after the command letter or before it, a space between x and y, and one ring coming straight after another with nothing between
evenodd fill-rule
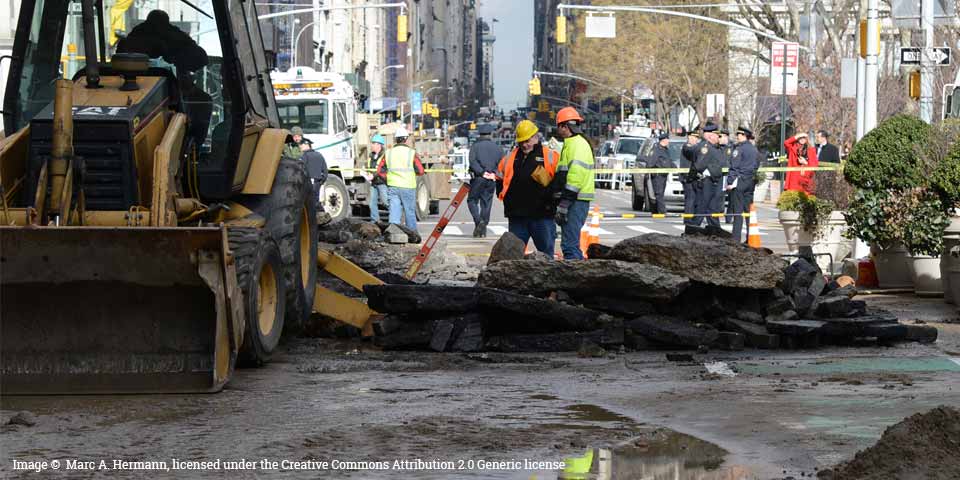
<instances>
[{"instance_id":1,"label":"rounded green shrub with trailing lower foliage and its tall planter","mask_svg":"<svg viewBox=\"0 0 960 480\"><path fill-rule=\"evenodd\" d=\"M909 115L893 116L864 136L844 163L844 178L857 188L844 215L848 234L871 244L877 279L884 288L909 288L911 262L899 232L903 218L890 217L907 190L928 185L918 146L930 126Z\"/></svg>"}]
</instances>

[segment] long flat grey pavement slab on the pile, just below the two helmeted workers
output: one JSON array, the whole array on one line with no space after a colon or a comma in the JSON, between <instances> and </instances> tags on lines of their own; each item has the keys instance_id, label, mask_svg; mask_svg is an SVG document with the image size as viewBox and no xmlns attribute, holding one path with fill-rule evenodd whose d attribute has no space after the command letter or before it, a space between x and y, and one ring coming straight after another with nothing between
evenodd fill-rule
<instances>
[{"instance_id":1,"label":"long flat grey pavement slab on the pile, just below the two helmeted workers","mask_svg":"<svg viewBox=\"0 0 960 480\"><path fill-rule=\"evenodd\" d=\"M618 260L507 260L480 273L478 286L547 296L556 290L669 301L690 281L654 265Z\"/></svg>"}]
</instances>

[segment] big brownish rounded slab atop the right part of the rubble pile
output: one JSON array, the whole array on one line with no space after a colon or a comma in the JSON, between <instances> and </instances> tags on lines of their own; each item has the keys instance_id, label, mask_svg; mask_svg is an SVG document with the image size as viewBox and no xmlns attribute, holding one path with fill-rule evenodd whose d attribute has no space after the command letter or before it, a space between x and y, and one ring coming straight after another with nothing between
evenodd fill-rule
<instances>
[{"instance_id":1,"label":"big brownish rounded slab atop the right part of the rubble pile","mask_svg":"<svg viewBox=\"0 0 960 480\"><path fill-rule=\"evenodd\" d=\"M697 282L723 287L772 289L784 278L780 257L708 237L647 233L621 241L605 258L656 265Z\"/></svg>"}]
</instances>

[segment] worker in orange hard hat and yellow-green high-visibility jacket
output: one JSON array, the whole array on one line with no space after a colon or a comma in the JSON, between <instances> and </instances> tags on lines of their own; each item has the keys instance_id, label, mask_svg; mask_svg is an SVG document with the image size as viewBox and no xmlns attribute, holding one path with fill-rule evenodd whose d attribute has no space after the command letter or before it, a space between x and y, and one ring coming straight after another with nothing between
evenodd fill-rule
<instances>
[{"instance_id":1,"label":"worker in orange hard hat and yellow-green high-visibility jacket","mask_svg":"<svg viewBox=\"0 0 960 480\"><path fill-rule=\"evenodd\" d=\"M554 220L561 227L560 250L566 260L583 260L580 229L594 199L593 147L583 136L583 117L573 107L557 112L557 134L563 150L551 188L558 201Z\"/></svg>"}]
</instances>

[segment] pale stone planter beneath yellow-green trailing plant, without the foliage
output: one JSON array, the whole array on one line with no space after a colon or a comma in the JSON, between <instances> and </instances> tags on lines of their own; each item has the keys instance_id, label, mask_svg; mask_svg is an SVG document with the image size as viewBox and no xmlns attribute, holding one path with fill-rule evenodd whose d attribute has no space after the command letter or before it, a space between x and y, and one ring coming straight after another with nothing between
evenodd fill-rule
<instances>
[{"instance_id":1,"label":"pale stone planter beneath yellow-green trailing plant, without the foliage","mask_svg":"<svg viewBox=\"0 0 960 480\"><path fill-rule=\"evenodd\" d=\"M842 212L831 212L827 224L820 227L819 235L804 230L800 223L800 212L781 211L779 217L780 226L783 227L783 234L787 239L787 249L791 252L810 246L813 253L829 253L834 262L839 262L853 250L853 241L843 237L847 222ZM817 256L817 264L821 270L830 271L830 257Z\"/></svg>"}]
</instances>

